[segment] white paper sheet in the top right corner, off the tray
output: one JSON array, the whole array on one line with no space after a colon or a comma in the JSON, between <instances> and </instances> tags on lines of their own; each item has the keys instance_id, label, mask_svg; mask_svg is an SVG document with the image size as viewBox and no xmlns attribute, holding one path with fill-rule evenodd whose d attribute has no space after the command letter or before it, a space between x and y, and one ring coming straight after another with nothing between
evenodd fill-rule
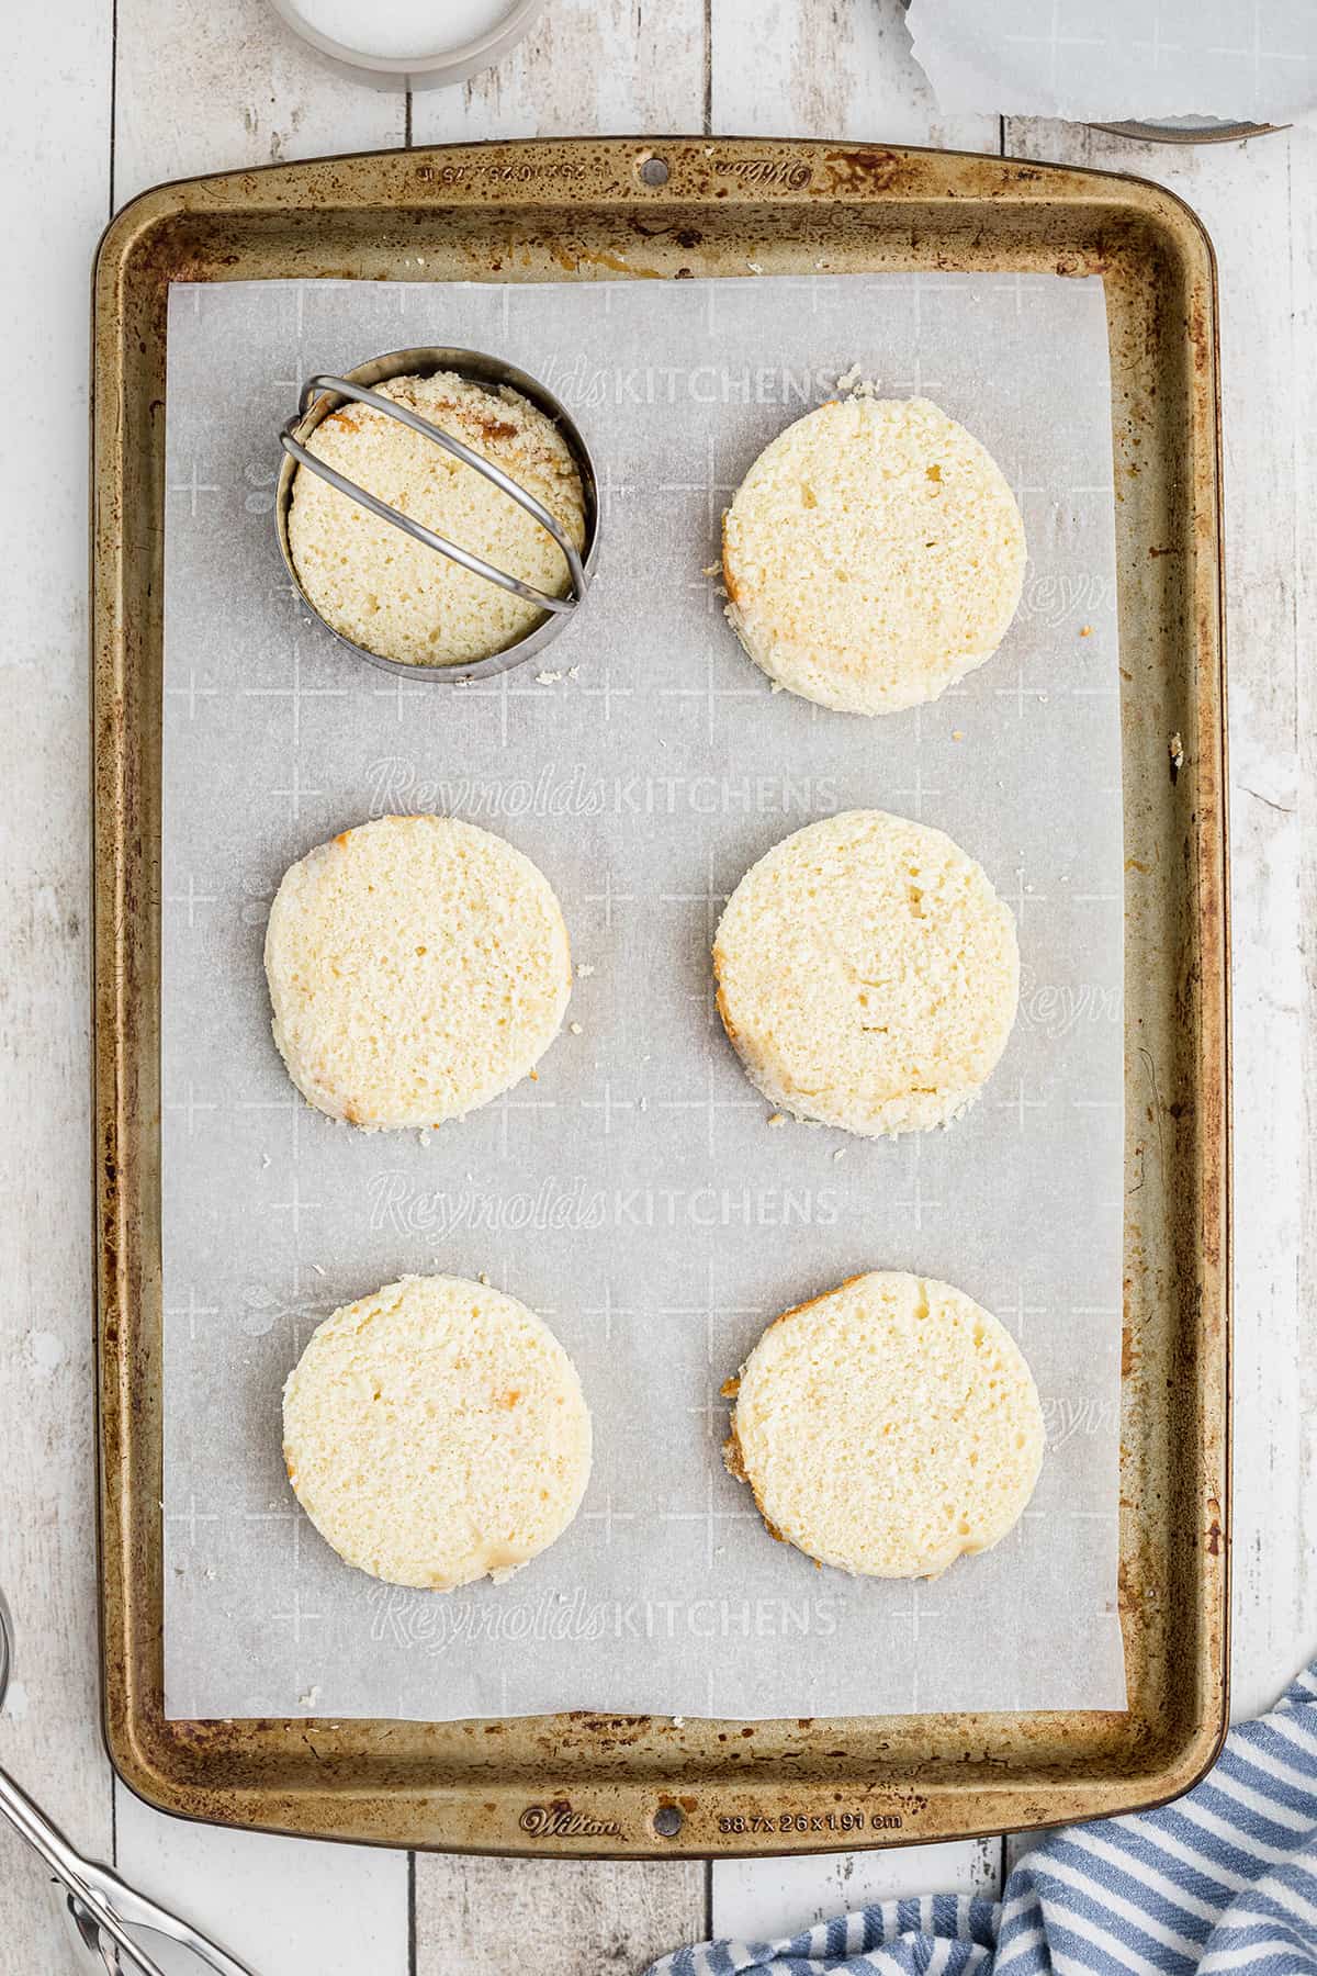
<instances>
[{"instance_id":1,"label":"white paper sheet in the top right corner, off the tray","mask_svg":"<svg viewBox=\"0 0 1317 1976\"><path fill-rule=\"evenodd\" d=\"M1317 109L1313 0L910 0L942 111L1285 123Z\"/></svg>"}]
</instances>

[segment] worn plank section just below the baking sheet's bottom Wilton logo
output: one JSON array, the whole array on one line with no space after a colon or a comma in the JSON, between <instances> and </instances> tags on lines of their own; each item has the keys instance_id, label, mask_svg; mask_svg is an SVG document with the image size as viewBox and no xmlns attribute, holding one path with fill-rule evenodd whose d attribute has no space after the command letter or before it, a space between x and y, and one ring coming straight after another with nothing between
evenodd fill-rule
<instances>
[{"instance_id":1,"label":"worn plank section just below the baking sheet's bottom Wilton logo","mask_svg":"<svg viewBox=\"0 0 1317 1976\"><path fill-rule=\"evenodd\" d=\"M699 1861L417 1859L415 1976L632 1976L705 1927Z\"/></svg>"}]
</instances>

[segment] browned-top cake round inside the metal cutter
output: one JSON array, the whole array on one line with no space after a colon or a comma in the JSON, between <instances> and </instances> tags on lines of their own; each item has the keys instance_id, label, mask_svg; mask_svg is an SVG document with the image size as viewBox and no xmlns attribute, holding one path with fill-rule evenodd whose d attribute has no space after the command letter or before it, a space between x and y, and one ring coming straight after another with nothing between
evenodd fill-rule
<instances>
[{"instance_id":1,"label":"browned-top cake round inside the metal cutter","mask_svg":"<svg viewBox=\"0 0 1317 1976\"><path fill-rule=\"evenodd\" d=\"M584 496L571 449L537 405L509 385L486 389L456 371L375 387L502 466L584 545ZM389 508L456 541L549 597L571 577L553 535L474 466L373 405L344 405L308 441ZM543 618L535 605L413 541L318 474L298 468L288 547L316 611L353 644L411 666L456 666L504 652Z\"/></svg>"}]
</instances>

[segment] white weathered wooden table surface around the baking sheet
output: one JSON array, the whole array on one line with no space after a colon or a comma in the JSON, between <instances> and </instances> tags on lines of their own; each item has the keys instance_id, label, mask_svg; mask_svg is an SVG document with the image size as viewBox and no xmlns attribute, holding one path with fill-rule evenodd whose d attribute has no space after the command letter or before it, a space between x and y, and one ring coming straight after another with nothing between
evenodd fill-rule
<instances>
[{"instance_id":1,"label":"white weathered wooden table surface around the baking sheet","mask_svg":"<svg viewBox=\"0 0 1317 1976\"><path fill-rule=\"evenodd\" d=\"M0 26L0 1583L20 1670L0 1761L71 1838L269 1976L636 1970L713 1931L999 1885L1009 1840L725 1863L498 1861L184 1826L97 1729L87 986L87 279L162 178L452 138L719 130L1009 150L1137 172L1222 279L1234 854L1234 1709L1317 1650L1317 130L1248 146L942 119L898 0L549 0L498 73L407 101L336 79L265 0L59 0ZM1301 672L1309 660L1309 676ZM1317 1089L1317 1083L1313 1083ZM0 1976L59 1976L49 1887L0 1832Z\"/></svg>"}]
</instances>

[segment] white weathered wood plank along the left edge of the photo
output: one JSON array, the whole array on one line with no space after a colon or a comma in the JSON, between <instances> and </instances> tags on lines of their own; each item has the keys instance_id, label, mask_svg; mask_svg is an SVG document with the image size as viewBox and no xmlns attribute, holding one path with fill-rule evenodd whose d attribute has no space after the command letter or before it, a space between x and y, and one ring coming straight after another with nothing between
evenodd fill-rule
<instances>
[{"instance_id":1,"label":"white weathered wood plank along the left edge of the photo","mask_svg":"<svg viewBox=\"0 0 1317 1976\"><path fill-rule=\"evenodd\" d=\"M0 28L0 330L41 379L6 419L0 528L0 1571L18 1628L0 1763L109 1852L97 1731L87 1071L87 265L109 213L111 18L69 0L59 49ZM34 526L34 504L39 520ZM39 1944L39 1952L36 1948ZM0 1970L61 1970L43 1869L0 1830Z\"/></svg>"}]
</instances>

